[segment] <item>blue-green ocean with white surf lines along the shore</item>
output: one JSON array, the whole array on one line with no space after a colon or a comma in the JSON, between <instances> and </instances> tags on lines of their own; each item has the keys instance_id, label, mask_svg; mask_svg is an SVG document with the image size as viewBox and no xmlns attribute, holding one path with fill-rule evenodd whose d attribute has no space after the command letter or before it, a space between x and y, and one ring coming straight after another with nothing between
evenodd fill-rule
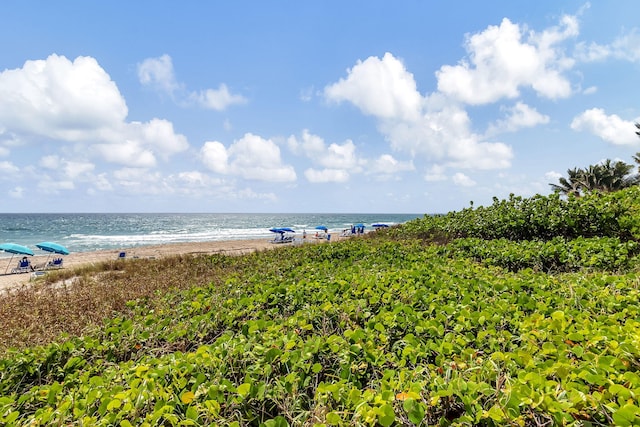
<instances>
[{"instance_id":1,"label":"blue-green ocean with white surf lines along the shore","mask_svg":"<svg viewBox=\"0 0 640 427\"><path fill-rule=\"evenodd\" d=\"M143 245L238 239L269 239L273 227L290 227L302 236L326 226L340 233L355 224L400 224L422 214L0 214L0 243L17 243L35 252L55 242L70 252L126 249ZM44 252L43 252L44 253ZM0 252L0 257L11 254Z\"/></svg>"}]
</instances>

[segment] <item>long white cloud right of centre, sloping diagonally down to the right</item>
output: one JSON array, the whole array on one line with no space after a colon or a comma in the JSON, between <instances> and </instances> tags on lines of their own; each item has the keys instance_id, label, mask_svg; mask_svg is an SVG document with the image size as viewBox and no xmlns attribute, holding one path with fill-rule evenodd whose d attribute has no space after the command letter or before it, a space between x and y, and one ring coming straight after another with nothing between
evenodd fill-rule
<instances>
[{"instance_id":1,"label":"long white cloud right of centre, sloping diagonally down to the right","mask_svg":"<svg viewBox=\"0 0 640 427\"><path fill-rule=\"evenodd\" d=\"M348 101L375 116L381 132L395 150L430 160L450 161L458 167L504 168L511 148L482 141L471 132L466 111L446 97L423 97L413 75L390 53L382 59L359 61L345 79L325 88L332 101ZM489 156L482 158L477 156ZM461 157L469 161L461 161ZM476 156L473 161L471 157Z\"/></svg>"}]
</instances>

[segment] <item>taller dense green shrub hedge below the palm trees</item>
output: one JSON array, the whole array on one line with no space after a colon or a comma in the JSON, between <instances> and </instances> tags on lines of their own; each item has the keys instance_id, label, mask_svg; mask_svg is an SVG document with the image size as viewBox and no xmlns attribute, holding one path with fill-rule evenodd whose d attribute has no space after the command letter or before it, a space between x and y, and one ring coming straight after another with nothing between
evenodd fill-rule
<instances>
[{"instance_id":1,"label":"taller dense green shrub hedge below the palm trees","mask_svg":"<svg viewBox=\"0 0 640 427\"><path fill-rule=\"evenodd\" d=\"M395 237L551 240L555 237L640 238L640 187L583 197L559 194L494 198L487 207L426 215L393 230Z\"/></svg>"}]
</instances>

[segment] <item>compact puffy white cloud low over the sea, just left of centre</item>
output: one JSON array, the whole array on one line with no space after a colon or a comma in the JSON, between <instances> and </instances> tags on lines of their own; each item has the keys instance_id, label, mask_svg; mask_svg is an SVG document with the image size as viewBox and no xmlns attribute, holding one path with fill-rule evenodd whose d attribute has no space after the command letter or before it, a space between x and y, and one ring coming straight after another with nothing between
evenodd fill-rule
<instances>
[{"instance_id":1,"label":"compact puffy white cloud low over the sea, just left of centre","mask_svg":"<svg viewBox=\"0 0 640 427\"><path fill-rule=\"evenodd\" d=\"M218 141L205 142L200 155L205 166L216 173L258 181L296 180L293 167L282 163L280 148L273 141L251 133L234 141L229 148Z\"/></svg>"}]
</instances>

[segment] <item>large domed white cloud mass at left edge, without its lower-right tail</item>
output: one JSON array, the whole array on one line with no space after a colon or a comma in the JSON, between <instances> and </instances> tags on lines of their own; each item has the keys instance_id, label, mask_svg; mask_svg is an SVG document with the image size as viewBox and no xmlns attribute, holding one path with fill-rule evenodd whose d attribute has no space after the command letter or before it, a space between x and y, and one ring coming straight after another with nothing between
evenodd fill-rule
<instances>
[{"instance_id":1,"label":"large domed white cloud mass at left edge, without its lower-right tail","mask_svg":"<svg viewBox=\"0 0 640 427\"><path fill-rule=\"evenodd\" d=\"M94 58L51 55L0 73L5 132L86 141L126 116L124 98Z\"/></svg>"}]
</instances>

